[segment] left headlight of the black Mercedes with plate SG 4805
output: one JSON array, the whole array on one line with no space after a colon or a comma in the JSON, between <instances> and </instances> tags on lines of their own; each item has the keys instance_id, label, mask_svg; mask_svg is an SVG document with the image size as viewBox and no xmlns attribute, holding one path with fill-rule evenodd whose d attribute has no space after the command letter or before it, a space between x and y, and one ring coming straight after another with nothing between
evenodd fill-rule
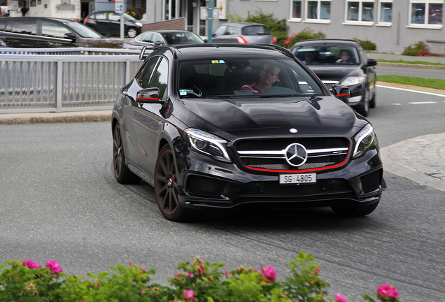
<instances>
[{"instance_id":1,"label":"left headlight of the black Mercedes with plate SG 4805","mask_svg":"<svg viewBox=\"0 0 445 302\"><path fill-rule=\"evenodd\" d=\"M192 150L209 155L214 159L231 162L225 148L227 141L198 129L187 129L185 133L187 134Z\"/></svg>"}]
</instances>

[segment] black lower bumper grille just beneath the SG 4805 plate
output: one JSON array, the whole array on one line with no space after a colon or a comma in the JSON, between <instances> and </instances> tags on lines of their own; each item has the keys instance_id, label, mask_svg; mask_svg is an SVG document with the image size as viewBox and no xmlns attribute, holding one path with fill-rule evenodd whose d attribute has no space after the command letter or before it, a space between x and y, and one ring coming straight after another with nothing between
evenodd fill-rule
<instances>
[{"instance_id":1,"label":"black lower bumper grille just beneath the SG 4805 plate","mask_svg":"<svg viewBox=\"0 0 445 302\"><path fill-rule=\"evenodd\" d=\"M311 185L279 185L278 182L249 182L246 184L238 197L247 196L307 196L332 193L352 193L353 189L346 180L331 179L317 180L316 184Z\"/></svg>"}]
</instances>

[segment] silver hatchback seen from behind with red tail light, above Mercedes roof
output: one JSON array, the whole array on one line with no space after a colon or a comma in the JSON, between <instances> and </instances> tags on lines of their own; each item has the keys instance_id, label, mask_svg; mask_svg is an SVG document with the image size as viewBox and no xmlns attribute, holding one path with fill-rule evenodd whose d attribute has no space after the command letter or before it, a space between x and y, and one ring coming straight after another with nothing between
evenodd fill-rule
<instances>
[{"instance_id":1,"label":"silver hatchback seen from behind with red tail light, above Mercedes roof","mask_svg":"<svg viewBox=\"0 0 445 302\"><path fill-rule=\"evenodd\" d=\"M264 24L232 22L223 23L213 31L212 43L276 43L276 38Z\"/></svg>"}]
</instances>

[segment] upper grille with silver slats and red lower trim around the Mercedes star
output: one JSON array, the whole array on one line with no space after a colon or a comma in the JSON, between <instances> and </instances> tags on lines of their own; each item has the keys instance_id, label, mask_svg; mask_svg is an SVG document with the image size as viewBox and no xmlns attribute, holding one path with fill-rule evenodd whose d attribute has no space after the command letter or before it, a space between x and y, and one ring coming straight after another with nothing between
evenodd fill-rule
<instances>
[{"instance_id":1,"label":"upper grille with silver slats and red lower trim around the Mercedes star","mask_svg":"<svg viewBox=\"0 0 445 302\"><path fill-rule=\"evenodd\" d=\"M285 149L292 143L303 145L307 159L301 166L286 160ZM236 143L243 166L261 171L324 170L341 166L346 161L349 141L346 138L286 138L246 140Z\"/></svg>"}]
</instances>

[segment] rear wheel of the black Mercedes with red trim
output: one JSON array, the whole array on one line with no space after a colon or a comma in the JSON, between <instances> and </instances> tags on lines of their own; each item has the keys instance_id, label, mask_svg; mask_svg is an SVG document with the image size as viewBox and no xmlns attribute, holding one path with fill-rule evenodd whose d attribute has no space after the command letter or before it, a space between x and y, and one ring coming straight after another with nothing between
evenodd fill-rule
<instances>
[{"instance_id":1,"label":"rear wheel of the black Mercedes with red trim","mask_svg":"<svg viewBox=\"0 0 445 302\"><path fill-rule=\"evenodd\" d=\"M125 151L119 123L116 123L113 131L113 171L114 177L121 184L136 185L141 182L141 178L125 165Z\"/></svg>"}]
</instances>

